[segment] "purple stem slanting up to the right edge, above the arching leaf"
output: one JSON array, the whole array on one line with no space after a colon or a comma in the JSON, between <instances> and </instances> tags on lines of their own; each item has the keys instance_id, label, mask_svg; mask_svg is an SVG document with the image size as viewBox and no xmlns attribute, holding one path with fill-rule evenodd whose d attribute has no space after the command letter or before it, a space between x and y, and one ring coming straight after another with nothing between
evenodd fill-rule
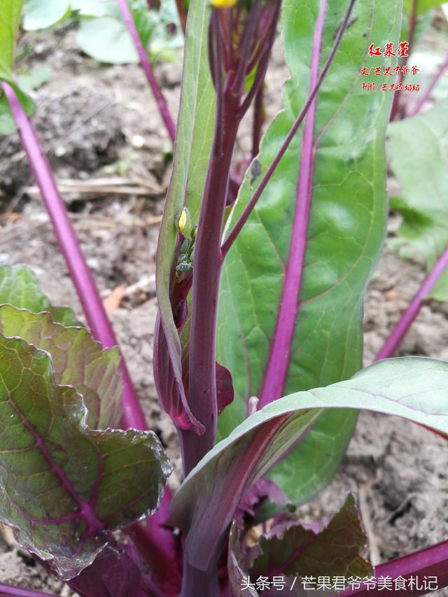
<instances>
[{"instance_id":1,"label":"purple stem slanting up to the right edge, above the arching leaf","mask_svg":"<svg viewBox=\"0 0 448 597\"><path fill-rule=\"evenodd\" d=\"M442 255L437 259L434 269L430 272L428 277L423 281L423 284L419 288L418 293L414 296L409 307L407 307L405 313L400 318L400 321L395 326L393 332L386 340L384 346L379 351L374 360L380 360L381 358L390 358L393 356L395 351L400 346L400 342L407 334L407 331L411 327L414 319L419 314L421 307L428 297L430 291L433 289L435 283L440 278L444 269L448 265L448 247L444 250Z\"/></svg>"}]
</instances>

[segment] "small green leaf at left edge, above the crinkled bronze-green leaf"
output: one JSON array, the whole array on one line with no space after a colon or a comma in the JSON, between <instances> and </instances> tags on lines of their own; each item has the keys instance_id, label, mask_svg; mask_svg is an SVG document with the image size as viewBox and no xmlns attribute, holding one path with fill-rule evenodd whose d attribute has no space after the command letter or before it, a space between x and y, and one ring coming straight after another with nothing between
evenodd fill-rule
<instances>
[{"instance_id":1,"label":"small green leaf at left edge, above the crinkled bronze-green leaf","mask_svg":"<svg viewBox=\"0 0 448 597\"><path fill-rule=\"evenodd\" d=\"M34 313L48 311L62 325L81 325L69 307L52 307L31 269L25 265L0 266L0 304L9 303Z\"/></svg>"}]
</instances>

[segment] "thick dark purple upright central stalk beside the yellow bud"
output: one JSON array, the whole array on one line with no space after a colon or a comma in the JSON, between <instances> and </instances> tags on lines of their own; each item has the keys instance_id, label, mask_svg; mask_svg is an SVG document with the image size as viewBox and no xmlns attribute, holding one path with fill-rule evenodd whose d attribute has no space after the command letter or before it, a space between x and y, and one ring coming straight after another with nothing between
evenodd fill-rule
<instances>
[{"instance_id":1,"label":"thick dark purple upright central stalk beside the yellow bud","mask_svg":"<svg viewBox=\"0 0 448 597\"><path fill-rule=\"evenodd\" d=\"M218 419L216 400L216 316L221 274L221 230L228 195L229 173L239 121L233 106L225 109L221 150L210 158L202 199L193 270L188 404L206 431L181 431L183 467L186 475L215 443ZM217 135L218 136L218 135Z\"/></svg>"}]
</instances>

